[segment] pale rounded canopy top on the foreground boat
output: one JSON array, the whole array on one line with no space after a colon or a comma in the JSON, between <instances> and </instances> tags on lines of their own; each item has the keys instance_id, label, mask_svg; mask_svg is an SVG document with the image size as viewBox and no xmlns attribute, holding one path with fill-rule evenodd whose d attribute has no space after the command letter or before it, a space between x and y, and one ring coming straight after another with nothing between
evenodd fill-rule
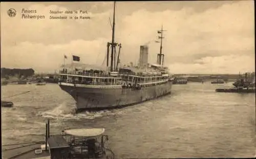
<instances>
[{"instance_id":1,"label":"pale rounded canopy top on the foreground boat","mask_svg":"<svg viewBox=\"0 0 256 159\"><path fill-rule=\"evenodd\" d=\"M69 129L65 130L66 134L70 134L76 137L97 137L104 133L104 128L83 128L83 129Z\"/></svg>"}]
</instances>

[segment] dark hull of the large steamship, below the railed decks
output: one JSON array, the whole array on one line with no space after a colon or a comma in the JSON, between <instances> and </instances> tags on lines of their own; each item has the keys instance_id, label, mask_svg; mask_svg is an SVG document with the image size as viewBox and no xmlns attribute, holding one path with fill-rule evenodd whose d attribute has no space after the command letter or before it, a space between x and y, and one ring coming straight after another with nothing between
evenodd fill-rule
<instances>
[{"instance_id":1,"label":"dark hull of the large steamship, below the railed decks","mask_svg":"<svg viewBox=\"0 0 256 159\"><path fill-rule=\"evenodd\" d=\"M62 85L76 101L77 111L116 109L139 104L171 93L172 81L136 88L86 88Z\"/></svg>"}]
</instances>

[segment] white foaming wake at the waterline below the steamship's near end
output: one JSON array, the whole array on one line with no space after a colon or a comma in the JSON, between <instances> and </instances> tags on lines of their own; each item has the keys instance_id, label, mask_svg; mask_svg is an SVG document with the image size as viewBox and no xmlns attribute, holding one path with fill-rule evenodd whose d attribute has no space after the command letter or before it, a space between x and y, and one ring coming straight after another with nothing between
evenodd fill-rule
<instances>
[{"instance_id":1,"label":"white foaming wake at the waterline below the steamship's near end","mask_svg":"<svg viewBox=\"0 0 256 159\"><path fill-rule=\"evenodd\" d=\"M82 119L95 119L103 116L115 115L116 113L111 110L101 111L84 111L75 113L76 107L67 105L63 102L54 109L47 110L45 112L39 112L37 115L49 118L49 119L60 119L60 120L82 120Z\"/></svg>"}]
</instances>

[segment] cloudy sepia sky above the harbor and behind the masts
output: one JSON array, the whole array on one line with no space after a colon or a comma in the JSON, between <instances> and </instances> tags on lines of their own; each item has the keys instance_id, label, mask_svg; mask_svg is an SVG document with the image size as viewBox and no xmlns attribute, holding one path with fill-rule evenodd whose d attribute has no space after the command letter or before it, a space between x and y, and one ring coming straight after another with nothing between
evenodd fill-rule
<instances>
[{"instance_id":1,"label":"cloudy sepia sky above the harbor and behind the masts","mask_svg":"<svg viewBox=\"0 0 256 159\"><path fill-rule=\"evenodd\" d=\"M71 63L102 65L111 41L113 2L1 2L1 67L32 68L38 73ZM10 17L10 8L16 15ZM45 19L24 19L25 15ZM90 19L50 19L52 11L88 11ZM138 63L140 46L148 61L160 51L157 30L164 32L164 65L174 74L254 72L253 1L117 2L115 40L122 44L120 62Z\"/></svg>"}]
</instances>

